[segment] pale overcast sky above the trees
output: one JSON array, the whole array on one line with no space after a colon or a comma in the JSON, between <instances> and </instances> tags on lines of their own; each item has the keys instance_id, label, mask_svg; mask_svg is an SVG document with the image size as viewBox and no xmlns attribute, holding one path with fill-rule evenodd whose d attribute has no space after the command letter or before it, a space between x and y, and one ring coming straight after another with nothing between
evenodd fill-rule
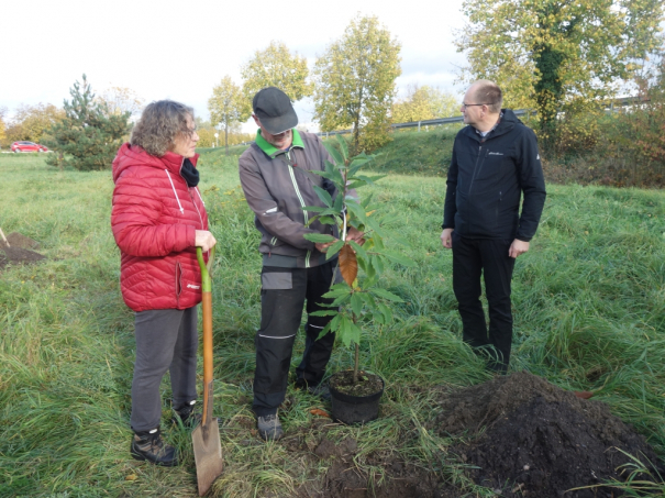
<instances>
[{"instance_id":1,"label":"pale overcast sky above the trees","mask_svg":"<svg viewBox=\"0 0 665 498\"><path fill-rule=\"evenodd\" d=\"M179 100L208 119L212 87L224 75L240 84L240 67L255 51L281 41L311 68L358 12L377 15L401 43L400 92L418 82L462 95L454 79L464 57L452 43L464 22L459 8L451 0L10 0L2 9L10 49L0 107L62 107L85 73L93 90L128 87L146 102ZM304 101L297 111L308 122L313 106Z\"/></svg>"}]
</instances>

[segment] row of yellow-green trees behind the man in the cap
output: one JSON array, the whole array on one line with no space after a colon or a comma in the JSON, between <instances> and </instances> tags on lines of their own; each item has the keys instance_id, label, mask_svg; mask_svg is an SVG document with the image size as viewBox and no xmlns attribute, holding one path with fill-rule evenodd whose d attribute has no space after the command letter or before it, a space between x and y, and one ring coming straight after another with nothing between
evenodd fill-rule
<instances>
[{"instance_id":1,"label":"row of yellow-green trees behind the man in the cap","mask_svg":"<svg viewBox=\"0 0 665 498\"><path fill-rule=\"evenodd\" d=\"M344 34L317 59L310 74L307 59L280 42L254 53L241 68L242 85L224 76L208 101L210 119L225 134L252 113L252 98L262 88L282 89L292 101L312 97L321 130L353 129L355 151L374 150L389 140L391 122L452 115L454 97L431 87L413 86L396 101L401 74L400 44L376 16L357 16ZM228 144L228 141L224 141ZM228 152L228 147L226 147Z\"/></svg>"}]
</instances>

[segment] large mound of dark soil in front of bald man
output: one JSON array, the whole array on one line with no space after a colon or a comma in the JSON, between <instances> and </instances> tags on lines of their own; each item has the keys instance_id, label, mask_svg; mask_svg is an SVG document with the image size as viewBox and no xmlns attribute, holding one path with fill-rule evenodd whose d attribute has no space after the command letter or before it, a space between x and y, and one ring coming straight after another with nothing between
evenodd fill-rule
<instances>
[{"instance_id":1,"label":"large mound of dark soil in front of bald man","mask_svg":"<svg viewBox=\"0 0 665 498\"><path fill-rule=\"evenodd\" d=\"M440 433L468 431L472 436L451 451L478 467L469 471L474 482L501 489L503 497L621 496L609 487L565 493L625 480L630 469L618 467L631 460L621 451L662 472L651 446L606 403L578 399L528 373L446 395L441 405Z\"/></svg>"}]
</instances>

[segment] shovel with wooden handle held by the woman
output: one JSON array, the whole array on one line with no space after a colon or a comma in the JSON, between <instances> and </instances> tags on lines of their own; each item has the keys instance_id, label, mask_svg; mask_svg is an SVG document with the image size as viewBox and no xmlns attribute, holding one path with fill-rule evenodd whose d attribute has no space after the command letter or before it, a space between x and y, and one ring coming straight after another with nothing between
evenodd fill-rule
<instances>
[{"instance_id":1,"label":"shovel with wooden handle held by the woman","mask_svg":"<svg viewBox=\"0 0 665 498\"><path fill-rule=\"evenodd\" d=\"M206 495L212 482L224 467L220 427L212 418L212 286L210 266L214 247L210 251L208 266L203 262L203 252L197 247L197 258L201 267L201 290L203 297L203 417L201 423L191 433L193 457L197 463L197 482L199 496Z\"/></svg>"}]
</instances>

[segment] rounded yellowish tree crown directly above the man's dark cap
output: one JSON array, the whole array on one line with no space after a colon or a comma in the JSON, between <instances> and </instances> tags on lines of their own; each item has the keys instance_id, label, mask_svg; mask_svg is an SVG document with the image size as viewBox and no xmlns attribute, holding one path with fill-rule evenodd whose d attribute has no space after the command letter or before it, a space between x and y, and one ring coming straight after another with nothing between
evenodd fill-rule
<instances>
[{"instance_id":1,"label":"rounded yellowish tree crown directly above the man's dark cap","mask_svg":"<svg viewBox=\"0 0 665 498\"><path fill-rule=\"evenodd\" d=\"M262 88L277 87L293 102L312 95L312 86L307 81L307 59L291 54L282 42L273 41L264 51L256 51L254 57L241 67L241 75L245 81L243 92L250 112L252 99Z\"/></svg>"}]
</instances>

